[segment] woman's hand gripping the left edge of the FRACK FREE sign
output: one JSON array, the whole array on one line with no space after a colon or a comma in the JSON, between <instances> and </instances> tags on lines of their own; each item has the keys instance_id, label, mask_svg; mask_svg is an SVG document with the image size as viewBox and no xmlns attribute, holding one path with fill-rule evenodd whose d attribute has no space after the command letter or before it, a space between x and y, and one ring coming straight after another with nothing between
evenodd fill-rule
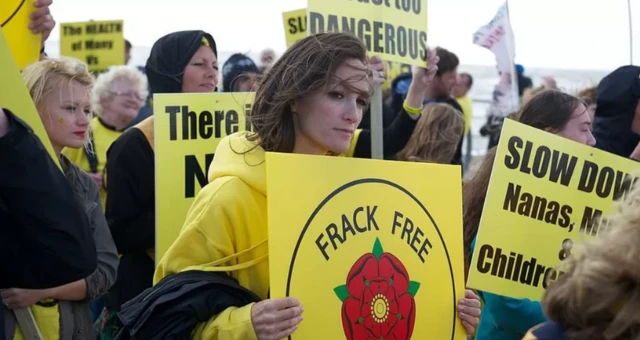
<instances>
[{"instance_id":1,"label":"woman's hand gripping the left edge of the FRACK FREE sign","mask_svg":"<svg viewBox=\"0 0 640 340\"><path fill-rule=\"evenodd\" d=\"M256 303L251 308L251 322L258 340L288 337L302 321L303 310L300 301L292 297Z\"/></svg>"}]
</instances>

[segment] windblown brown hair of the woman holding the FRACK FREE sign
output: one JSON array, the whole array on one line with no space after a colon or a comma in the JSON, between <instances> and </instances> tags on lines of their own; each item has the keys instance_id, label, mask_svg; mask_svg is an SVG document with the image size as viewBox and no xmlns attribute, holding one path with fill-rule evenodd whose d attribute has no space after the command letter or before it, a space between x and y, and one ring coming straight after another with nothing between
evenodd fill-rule
<instances>
[{"instance_id":1,"label":"windblown brown hair of the woman holding the FRACK FREE sign","mask_svg":"<svg viewBox=\"0 0 640 340\"><path fill-rule=\"evenodd\" d=\"M319 33L292 45L261 78L247 117L255 133L247 138L265 151L292 152L296 139L292 105L329 84L349 59L360 60L371 79L367 49L352 33ZM348 87L354 80L338 81Z\"/></svg>"}]
</instances>

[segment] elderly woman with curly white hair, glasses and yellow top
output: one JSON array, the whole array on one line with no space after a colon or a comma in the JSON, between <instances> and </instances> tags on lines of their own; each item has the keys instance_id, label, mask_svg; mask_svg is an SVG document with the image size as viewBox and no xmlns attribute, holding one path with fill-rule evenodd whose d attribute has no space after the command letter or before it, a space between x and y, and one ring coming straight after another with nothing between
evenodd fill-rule
<instances>
[{"instance_id":1,"label":"elderly woman with curly white hair, glasses and yellow top","mask_svg":"<svg viewBox=\"0 0 640 340\"><path fill-rule=\"evenodd\" d=\"M91 98L95 118L91 121L90 142L84 148L63 151L98 184L103 211L107 192L102 173L107 163L107 150L136 117L147 94L147 78L135 67L115 66L101 74Z\"/></svg>"}]
</instances>

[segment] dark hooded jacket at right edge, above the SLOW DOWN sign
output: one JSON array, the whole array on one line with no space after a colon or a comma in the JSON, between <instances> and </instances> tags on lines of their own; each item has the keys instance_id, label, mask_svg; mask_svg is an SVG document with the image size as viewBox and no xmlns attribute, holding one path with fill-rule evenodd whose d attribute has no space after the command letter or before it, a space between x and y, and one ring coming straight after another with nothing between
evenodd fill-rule
<instances>
[{"instance_id":1,"label":"dark hooded jacket at right edge, above the SLOW DOWN sign","mask_svg":"<svg viewBox=\"0 0 640 340\"><path fill-rule=\"evenodd\" d=\"M640 67L623 66L603 78L596 88L593 122L596 148L628 158L640 142L631 123L640 99Z\"/></svg>"}]
</instances>

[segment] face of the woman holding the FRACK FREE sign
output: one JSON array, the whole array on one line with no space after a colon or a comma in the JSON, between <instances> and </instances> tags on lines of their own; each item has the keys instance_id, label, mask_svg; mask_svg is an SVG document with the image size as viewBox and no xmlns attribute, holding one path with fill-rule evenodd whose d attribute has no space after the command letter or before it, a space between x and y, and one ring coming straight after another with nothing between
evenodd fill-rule
<instances>
[{"instance_id":1,"label":"face of the woman holding the FRACK FREE sign","mask_svg":"<svg viewBox=\"0 0 640 340\"><path fill-rule=\"evenodd\" d=\"M325 155L349 150L369 100L371 83L365 70L361 61L348 59L329 84L296 101L292 107L295 153Z\"/></svg>"}]
</instances>

